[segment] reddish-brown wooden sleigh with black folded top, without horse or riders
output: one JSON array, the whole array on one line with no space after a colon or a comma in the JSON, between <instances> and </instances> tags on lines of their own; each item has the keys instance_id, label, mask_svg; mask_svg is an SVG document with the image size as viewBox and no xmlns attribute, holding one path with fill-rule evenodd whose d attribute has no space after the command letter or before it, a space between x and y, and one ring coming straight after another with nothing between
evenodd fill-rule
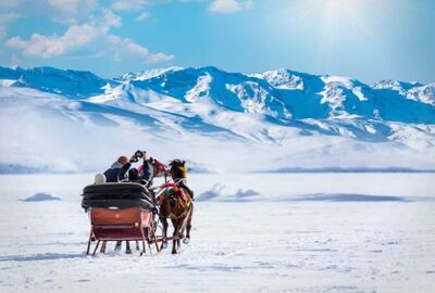
<instances>
[{"instance_id":1,"label":"reddish-brown wooden sleigh with black folded top, without horse or riders","mask_svg":"<svg viewBox=\"0 0 435 293\"><path fill-rule=\"evenodd\" d=\"M140 241L146 253L148 244L156 244L154 200L151 193L138 183L102 183L88 186L84 190L82 206L89 213L90 232L86 253L91 242L97 241L92 255L99 245L108 241Z\"/></svg>"}]
</instances>

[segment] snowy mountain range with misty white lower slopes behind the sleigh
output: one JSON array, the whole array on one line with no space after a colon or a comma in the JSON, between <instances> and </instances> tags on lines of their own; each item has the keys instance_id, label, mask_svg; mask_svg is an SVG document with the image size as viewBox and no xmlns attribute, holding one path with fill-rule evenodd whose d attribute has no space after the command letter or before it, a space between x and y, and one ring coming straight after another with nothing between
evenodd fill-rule
<instances>
[{"instance_id":1,"label":"snowy mountain range with misty white lower slopes behind the sleigh","mask_svg":"<svg viewBox=\"0 0 435 293\"><path fill-rule=\"evenodd\" d=\"M3 173L97 170L136 149L209 171L435 168L435 84L0 67L0 112Z\"/></svg>"}]
</instances>

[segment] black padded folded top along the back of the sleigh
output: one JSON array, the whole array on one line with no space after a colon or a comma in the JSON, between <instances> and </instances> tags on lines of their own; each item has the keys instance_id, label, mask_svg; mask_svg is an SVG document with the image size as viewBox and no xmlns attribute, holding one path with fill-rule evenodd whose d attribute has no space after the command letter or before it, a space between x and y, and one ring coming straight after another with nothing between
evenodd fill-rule
<instances>
[{"instance_id":1,"label":"black padded folded top along the back of the sleigh","mask_svg":"<svg viewBox=\"0 0 435 293\"><path fill-rule=\"evenodd\" d=\"M145 209L154 208L153 195L139 183L120 182L102 183L85 187L82 207L127 208L140 206Z\"/></svg>"}]
</instances>

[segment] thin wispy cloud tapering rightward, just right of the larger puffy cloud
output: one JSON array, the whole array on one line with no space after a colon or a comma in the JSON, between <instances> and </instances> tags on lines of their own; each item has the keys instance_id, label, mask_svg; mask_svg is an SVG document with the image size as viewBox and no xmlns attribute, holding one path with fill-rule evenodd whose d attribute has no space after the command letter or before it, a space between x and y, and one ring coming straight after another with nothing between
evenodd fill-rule
<instances>
[{"instance_id":1,"label":"thin wispy cloud tapering rightward, just right of the larger puffy cloud","mask_svg":"<svg viewBox=\"0 0 435 293\"><path fill-rule=\"evenodd\" d=\"M130 54L140 58L145 63L169 62L174 60L174 55L164 53L151 53L149 50L130 39L120 38L114 35L109 36L109 41L115 50L114 56L116 61L121 60L122 54Z\"/></svg>"}]
</instances>

